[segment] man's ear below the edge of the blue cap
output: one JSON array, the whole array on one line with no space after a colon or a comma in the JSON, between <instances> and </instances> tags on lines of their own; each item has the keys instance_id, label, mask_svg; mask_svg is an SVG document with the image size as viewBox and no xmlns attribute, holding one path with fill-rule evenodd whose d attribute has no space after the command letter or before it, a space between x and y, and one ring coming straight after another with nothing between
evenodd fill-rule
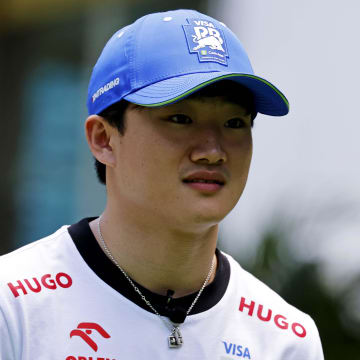
<instances>
[{"instance_id":1,"label":"man's ear below the edge of the blue cap","mask_svg":"<svg viewBox=\"0 0 360 360\"><path fill-rule=\"evenodd\" d=\"M90 115L85 122L85 134L89 148L94 157L110 167L115 165L113 148L110 146L111 136L115 129L101 116Z\"/></svg>"}]
</instances>

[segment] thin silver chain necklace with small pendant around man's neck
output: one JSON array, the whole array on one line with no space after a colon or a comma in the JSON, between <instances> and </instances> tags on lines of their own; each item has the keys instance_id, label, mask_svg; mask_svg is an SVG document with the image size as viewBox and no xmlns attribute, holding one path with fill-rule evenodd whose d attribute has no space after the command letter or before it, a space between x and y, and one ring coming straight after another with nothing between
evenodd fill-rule
<instances>
[{"instance_id":1,"label":"thin silver chain necklace with small pendant around man's neck","mask_svg":"<svg viewBox=\"0 0 360 360\"><path fill-rule=\"evenodd\" d=\"M170 329L171 333L168 336L168 345L169 348L179 348L181 347L181 345L184 343L181 332L180 332L180 324L175 324L172 321L169 320L169 322L165 321L165 319L156 311L156 309L151 305L150 301L146 299L146 297L142 294L142 292L140 291L140 289L134 284L134 282L131 280L131 278L129 277L129 275L125 272L125 270L119 265L119 263L116 261L116 259L113 257L113 255L111 254L110 250L108 249L108 247L105 244L104 238L102 236L101 233L101 227L100 227L100 222L101 222L101 216L99 216L99 220L98 220L98 234L99 234L99 238L101 241L101 245L103 250L105 251L105 253L107 254L107 256L110 258L110 260L119 268L119 270L123 273L123 275L125 276L125 278L129 281L129 283L131 284L131 286L134 288L134 290L140 295L141 299L146 303L146 305L161 319L161 321L165 324L165 326L167 328ZM200 288L199 292L197 293L194 301L192 302L192 304L190 305L190 307L187 309L186 311L186 316L190 314L192 308L194 307L194 305L196 304L196 302L198 301L201 293L203 292L203 290L205 289L207 283L210 280L211 274L214 270L214 266L215 266L215 257L213 258L213 261L211 263L211 267L209 270L209 273L206 276L206 279L202 285L202 287Z\"/></svg>"}]
</instances>

